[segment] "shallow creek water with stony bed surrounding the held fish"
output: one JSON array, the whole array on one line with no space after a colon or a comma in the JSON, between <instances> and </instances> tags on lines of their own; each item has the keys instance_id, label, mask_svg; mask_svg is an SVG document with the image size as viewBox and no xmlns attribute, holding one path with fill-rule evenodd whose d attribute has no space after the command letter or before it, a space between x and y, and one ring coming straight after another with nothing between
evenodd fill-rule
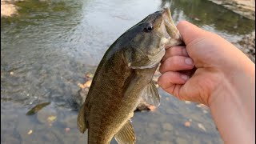
<instances>
[{"instance_id":1,"label":"shallow creek water with stony bed surrounding the held fish","mask_svg":"<svg viewBox=\"0 0 256 144\"><path fill-rule=\"evenodd\" d=\"M203 0L27 0L17 5L18 16L1 19L1 143L85 143L86 134L76 127L78 82L94 72L115 39L163 6L170 6L174 22L186 19L230 42L255 26ZM222 143L208 109L159 93L157 110L134 114L138 143ZM42 102L51 103L26 115Z\"/></svg>"}]
</instances>

